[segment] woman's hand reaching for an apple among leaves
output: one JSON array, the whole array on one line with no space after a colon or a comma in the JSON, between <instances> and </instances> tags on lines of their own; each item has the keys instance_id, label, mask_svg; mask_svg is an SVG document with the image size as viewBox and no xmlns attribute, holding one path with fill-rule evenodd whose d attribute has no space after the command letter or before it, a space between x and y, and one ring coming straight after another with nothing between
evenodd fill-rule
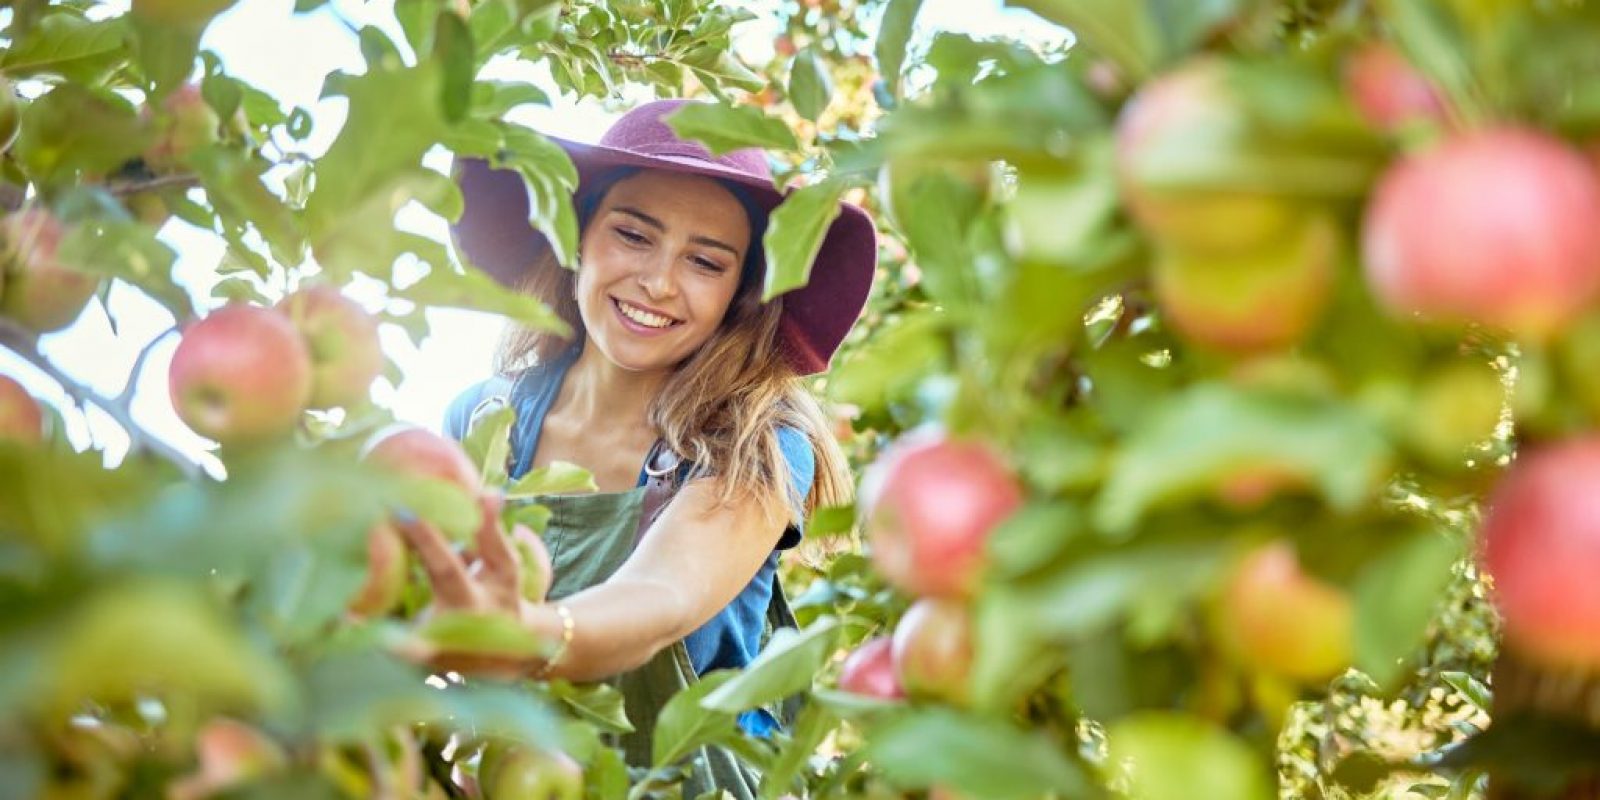
<instances>
[{"instance_id":1,"label":"woman's hand reaching for an apple among leaves","mask_svg":"<svg viewBox=\"0 0 1600 800\"><path fill-rule=\"evenodd\" d=\"M554 642L558 638L560 622L557 621L557 627L552 629L549 618L554 614L539 613L542 608L523 597L522 555L501 523L502 496L493 491L483 493L478 496L478 504L483 522L474 534L470 558L469 554L456 552L434 525L405 515L397 515L394 520L395 530L418 554L434 587L432 613L504 614L541 640ZM533 531L522 525L514 526L510 536L533 539L538 544ZM522 677L541 664L539 659L526 656L454 653L438 648L421 658L438 670L499 677Z\"/></svg>"}]
</instances>

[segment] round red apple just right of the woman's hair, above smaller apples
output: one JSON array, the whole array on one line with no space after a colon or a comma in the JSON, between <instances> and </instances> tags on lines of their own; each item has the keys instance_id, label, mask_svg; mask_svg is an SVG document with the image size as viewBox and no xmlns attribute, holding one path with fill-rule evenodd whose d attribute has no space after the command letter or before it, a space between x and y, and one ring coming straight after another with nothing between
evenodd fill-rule
<instances>
[{"instance_id":1,"label":"round red apple just right of the woman's hair, above smaller apples","mask_svg":"<svg viewBox=\"0 0 1600 800\"><path fill-rule=\"evenodd\" d=\"M872 562L918 597L970 597L995 526L1022 504L1005 462L979 442L902 442L862 480Z\"/></svg>"}]
</instances>

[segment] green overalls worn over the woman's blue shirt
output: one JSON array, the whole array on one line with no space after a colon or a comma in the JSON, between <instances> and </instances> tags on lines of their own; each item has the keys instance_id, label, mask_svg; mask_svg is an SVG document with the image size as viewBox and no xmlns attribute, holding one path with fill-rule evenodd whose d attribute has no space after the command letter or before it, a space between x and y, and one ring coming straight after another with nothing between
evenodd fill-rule
<instances>
[{"instance_id":1,"label":"green overalls worn over the woman's blue shirt","mask_svg":"<svg viewBox=\"0 0 1600 800\"><path fill-rule=\"evenodd\" d=\"M610 578L634 550L640 515L645 512L646 486L629 491L595 494L550 494L538 502L550 509L544 542L555 566L550 600L560 600ZM779 586L773 586L771 619L792 619ZM581 624L581 622L579 622ZM790 622L792 624L792 622ZM768 630L770 634L770 630ZM627 718L634 733L621 738L629 766L651 765L651 741L656 717L680 690L698 682L683 642L656 653L645 666L611 678L622 691ZM685 798L720 789L726 797L754 800L758 773L722 747L704 747L693 757L694 774L683 787Z\"/></svg>"}]
</instances>

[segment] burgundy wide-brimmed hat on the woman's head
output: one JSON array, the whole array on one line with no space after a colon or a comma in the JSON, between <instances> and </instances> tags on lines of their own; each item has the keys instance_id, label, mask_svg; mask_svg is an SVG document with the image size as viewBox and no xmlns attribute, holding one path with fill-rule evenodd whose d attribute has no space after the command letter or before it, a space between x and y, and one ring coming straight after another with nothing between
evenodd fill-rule
<instances>
[{"instance_id":1,"label":"burgundy wide-brimmed hat on the woman's head","mask_svg":"<svg viewBox=\"0 0 1600 800\"><path fill-rule=\"evenodd\" d=\"M582 144L547 136L578 166L578 192L614 166L640 166L720 178L749 187L750 200L771 213L784 194L773 187L766 155L758 149L712 155L699 142L680 139L662 117L688 101L646 102L619 118L600 138ZM515 286L528 269L547 261L544 234L528 224L528 189L520 174L494 170L480 158L462 158L456 181L466 210L451 227L467 262ZM861 317L877 266L877 229L866 211L840 203L822 248L811 266L811 280L782 296L778 323L779 349L798 374L827 370L850 326Z\"/></svg>"}]
</instances>

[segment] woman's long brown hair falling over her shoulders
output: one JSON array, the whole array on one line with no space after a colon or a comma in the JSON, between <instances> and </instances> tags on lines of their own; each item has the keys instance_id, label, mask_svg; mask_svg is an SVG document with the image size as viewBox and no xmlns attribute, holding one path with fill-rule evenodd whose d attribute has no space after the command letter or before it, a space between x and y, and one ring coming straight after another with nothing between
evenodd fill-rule
<instances>
[{"instance_id":1,"label":"woman's long brown hair falling over her shoulders","mask_svg":"<svg viewBox=\"0 0 1600 800\"><path fill-rule=\"evenodd\" d=\"M579 230L587 232L600 198L616 182L586 187L579 202ZM726 184L725 184L726 186ZM730 186L736 197L742 192ZM746 203L750 210L750 205ZM851 501L853 482L845 453L834 438L827 416L782 357L778 320L782 298L762 302L760 221L752 221L754 259L741 272L722 325L693 355L685 358L650 403L650 424L666 443L694 462L690 478L715 475L718 502L755 499L763 510L779 498L806 518L819 507ZM752 269L754 264L754 269ZM525 326L510 326L496 354L496 371L512 376L547 363L568 346L582 346L578 312L578 274L562 269L546 248L525 272L518 290L544 301L574 333L566 339ZM811 491L802 502L789 480L787 461L778 445L778 429L800 430L816 456Z\"/></svg>"}]
</instances>

